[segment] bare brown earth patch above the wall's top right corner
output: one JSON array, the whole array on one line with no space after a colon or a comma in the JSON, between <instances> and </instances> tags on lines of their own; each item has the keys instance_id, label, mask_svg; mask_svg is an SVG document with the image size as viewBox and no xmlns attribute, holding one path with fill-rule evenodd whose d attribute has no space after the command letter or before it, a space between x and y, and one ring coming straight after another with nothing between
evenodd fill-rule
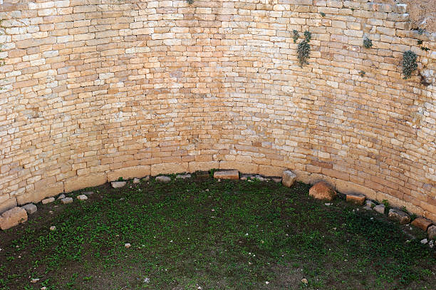
<instances>
[{"instance_id":1,"label":"bare brown earth patch above the wall's top right corner","mask_svg":"<svg viewBox=\"0 0 436 290\"><path fill-rule=\"evenodd\" d=\"M436 32L436 0L378 0L389 4L408 4L412 29Z\"/></svg>"}]
</instances>

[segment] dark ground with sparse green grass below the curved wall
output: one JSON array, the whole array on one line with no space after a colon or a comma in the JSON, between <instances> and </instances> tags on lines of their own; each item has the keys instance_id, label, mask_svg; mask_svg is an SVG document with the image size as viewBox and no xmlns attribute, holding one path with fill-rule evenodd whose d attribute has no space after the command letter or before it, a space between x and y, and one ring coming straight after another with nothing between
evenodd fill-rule
<instances>
[{"instance_id":1,"label":"dark ground with sparse green grass below the curved wall","mask_svg":"<svg viewBox=\"0 0 436 290\"><path fill-rule=\"evenodd\" d=\"M308 185L193 176L93 190L0 232L0 289L436 289L424 233L327 207Z\"/></svg>"}]
</instances>

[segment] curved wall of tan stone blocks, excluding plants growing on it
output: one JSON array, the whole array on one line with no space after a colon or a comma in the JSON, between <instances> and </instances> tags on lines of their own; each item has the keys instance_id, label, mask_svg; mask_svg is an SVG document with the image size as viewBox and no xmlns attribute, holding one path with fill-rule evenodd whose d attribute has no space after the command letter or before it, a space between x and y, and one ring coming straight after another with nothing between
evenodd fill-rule
<instances>
[{"instance_id":1,"label":"curved wall of tan stone blocks, excluding plants growing on it","mask_svg":"<svg viewBox=\"0 0 436 290\"><path fill-rule=\"evenodd\" d=\"M118 177L289 168L436 220L436 34L406 6L0 1L1 211ZM303 68L294 29L312 33ZM403 80L408 50L426 85Z\"/></svg>"}]
</instances>

